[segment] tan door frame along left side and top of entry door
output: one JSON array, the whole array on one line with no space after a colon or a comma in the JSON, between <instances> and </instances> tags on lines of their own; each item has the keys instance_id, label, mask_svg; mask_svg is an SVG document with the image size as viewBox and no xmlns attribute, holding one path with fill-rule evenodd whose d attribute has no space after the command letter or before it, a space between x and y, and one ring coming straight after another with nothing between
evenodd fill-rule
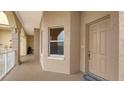
<instances>
[{"instance_id":1,"label":"tan door frame along left side and top of entry door","mask_svg":"<svg viewBox=\"0 0 124 93\"><path fill-rule=\"evenodd\" d=\"M88 56L88 52L89 52L89 26L92 24L96 24L100 21L106 20L108 18L111 18L110 14L103 16L101 18L98 18L98 19L96 19L90 23L87 23L85 26L86 27L86 33L85 33L85 36L86 36L85 37L85 73L86 74L93 74L93 73L89 72L89 56ZM93 74L93 75L95 75L95 74ZM95 75L95 76L97 76L97 75ZM98 76L98 77L100 77L100 76ZM102 78L102 77L100 77L100 78Z\"/></svg>"}]
</instances>

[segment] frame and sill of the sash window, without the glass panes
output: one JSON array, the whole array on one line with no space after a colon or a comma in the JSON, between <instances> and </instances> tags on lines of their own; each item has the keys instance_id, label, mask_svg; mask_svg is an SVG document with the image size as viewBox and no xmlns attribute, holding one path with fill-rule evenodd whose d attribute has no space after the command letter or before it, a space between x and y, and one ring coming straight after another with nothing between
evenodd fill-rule
<instances>
[{"instance_id":1,"label":"frame and sill of the sash window, without the glass panes","mask_svg":"<svg viewBox=\"0 0 124 93\"><path fill-rule=\"evenodd\" d=\"M54 26L54 27L48 27L48 57L50 59L63 59L64 58L64 42L65 42L65 33L64 33L64 40L50 40L50 29L56 29L56 28L63 28L64 26ZM63 42L63 55L61 54L50 54L50 43L51 42Z\"/></svg>"}]
</instances>

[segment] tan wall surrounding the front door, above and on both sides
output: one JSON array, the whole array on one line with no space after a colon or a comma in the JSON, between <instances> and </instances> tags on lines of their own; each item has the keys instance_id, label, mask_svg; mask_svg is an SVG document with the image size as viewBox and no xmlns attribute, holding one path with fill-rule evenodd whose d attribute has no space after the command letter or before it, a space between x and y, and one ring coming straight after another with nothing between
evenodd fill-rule
<instances>
[{"instance_id":1,"label":"tan wall surrounding the front door, above and on both sides","mask_svg":"<svg viewBox=\"0 0 124 93\"><path fill-rule=\"evenodd\" d=\"M114 54L114 61L111 63L111 70L114 71L112 76L114 76L115 80L118 79L118 12L82 12L82 19L81 19L81 62L80 62L80 70L85 72L85 36L86 36L86 24L90 23L96 19L104 17L106 15L111 16L111 30L113 31L113 35L111 37L113 45L111 49L113 50Z\"/></svg>"}]
</instances>

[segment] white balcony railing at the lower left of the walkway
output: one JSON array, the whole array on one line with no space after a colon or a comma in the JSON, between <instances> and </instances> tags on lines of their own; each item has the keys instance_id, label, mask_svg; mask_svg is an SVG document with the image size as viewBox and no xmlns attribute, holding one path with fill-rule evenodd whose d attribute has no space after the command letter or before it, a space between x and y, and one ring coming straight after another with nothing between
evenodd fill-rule
<instances>
[{"instance_id":1,"label":"white balcony railing at the lower left of the walkway","mask_svg":"<svg viewBox=\"0 0 124 93\"><path fill-rule=\"evenodd\" d=\"M14 67L15 51L5 51L0 53L0 80Z\"/></svg>"}]
</instances>

